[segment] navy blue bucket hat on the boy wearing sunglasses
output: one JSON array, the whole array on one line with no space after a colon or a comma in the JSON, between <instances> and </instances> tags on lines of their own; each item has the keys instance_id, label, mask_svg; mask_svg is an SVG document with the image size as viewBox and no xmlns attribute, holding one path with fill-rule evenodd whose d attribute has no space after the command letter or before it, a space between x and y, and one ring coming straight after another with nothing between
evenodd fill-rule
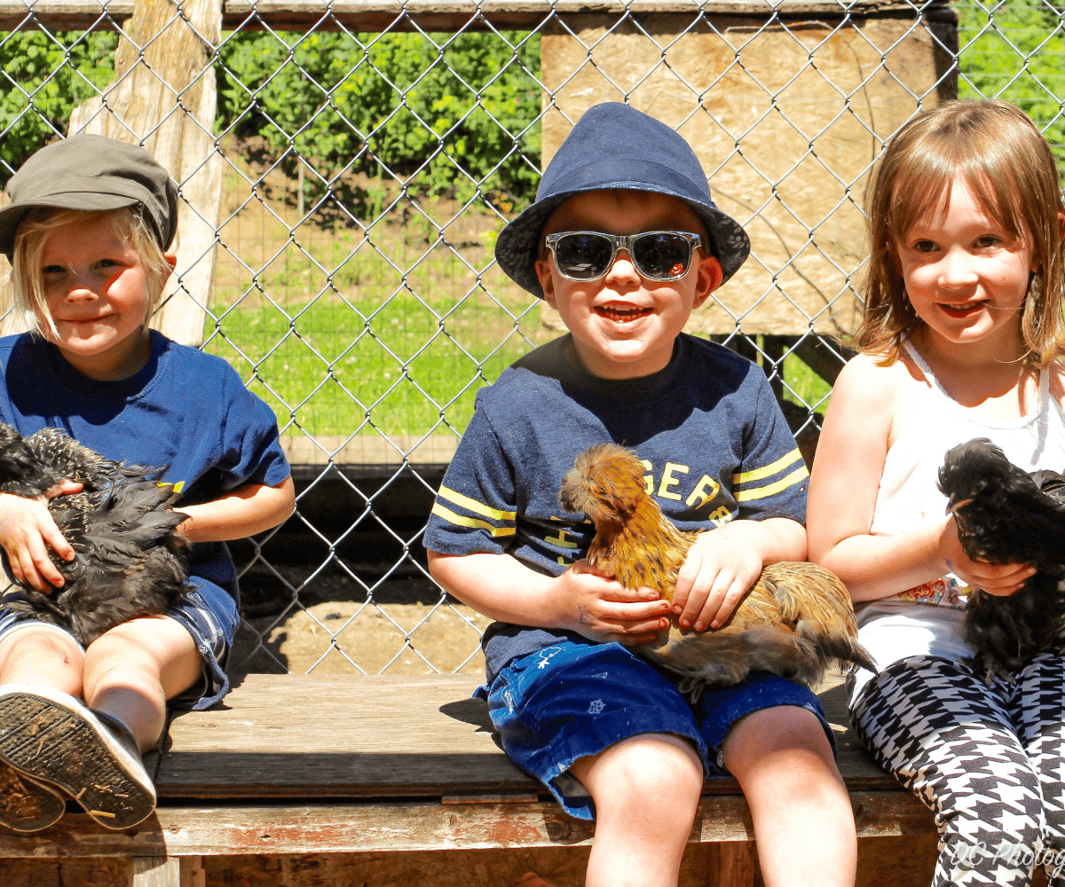
<instances>
[{"instance_id":1,"label":"navy blue bucket hat on the boy wearing sunglasses","mask_svg":"<svg viewBox=\"0 0 1065 887\"><path fill-rule=\"evenodd\" d=\"M536 202L499 233L499 267L543 298L535 265L547 216L575 194L604 188L650 191L684 200L706 226L724 272L722 282L751 251L747 232L710 199L706 174L684 137L654 117L611 101L585 112L547 164Z\"/></svg>"}]
</instances>

